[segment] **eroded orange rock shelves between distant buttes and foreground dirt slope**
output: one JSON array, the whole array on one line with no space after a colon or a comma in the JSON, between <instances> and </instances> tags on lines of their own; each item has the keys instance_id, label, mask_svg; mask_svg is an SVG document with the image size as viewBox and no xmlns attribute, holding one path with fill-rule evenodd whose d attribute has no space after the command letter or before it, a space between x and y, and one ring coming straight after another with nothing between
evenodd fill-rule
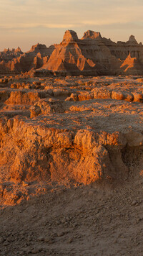
<instances>
[{"instance_id":1,"label":"eroded orange rock shelves between distant buttes and foreground dirt slope","mask_svg":"<svg viewBox=\"0 0 143 256\"><path fill-rule=\"evenodd\" d=\"M21 75L0 81L0 183L6 204L7 182L12 188L23 182L118 182L132 165L142 164L141 77Z\"/></svg>"}]
</instances>

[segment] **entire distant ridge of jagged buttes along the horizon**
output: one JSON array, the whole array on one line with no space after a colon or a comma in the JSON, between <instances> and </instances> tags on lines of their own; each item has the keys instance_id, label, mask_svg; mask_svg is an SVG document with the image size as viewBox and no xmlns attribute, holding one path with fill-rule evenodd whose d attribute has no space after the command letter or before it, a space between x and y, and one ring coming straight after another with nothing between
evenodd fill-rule
<instances>
[{"instance_id":1,"label":"entire distant ridge of jagged buttes along the horizon","mask_svg":"<svg viewBox=\"0 0 143 256\"><path fill-rule=\"evenodd\" d=\"M59 45L38 43L25 53L20 48L0 52L1 73L30 70L62 76L142 75L143 45L133 35L115 43L100 32L88 30L79 39L76 32L66 30Z\"/></svg>"}]
</instances>

